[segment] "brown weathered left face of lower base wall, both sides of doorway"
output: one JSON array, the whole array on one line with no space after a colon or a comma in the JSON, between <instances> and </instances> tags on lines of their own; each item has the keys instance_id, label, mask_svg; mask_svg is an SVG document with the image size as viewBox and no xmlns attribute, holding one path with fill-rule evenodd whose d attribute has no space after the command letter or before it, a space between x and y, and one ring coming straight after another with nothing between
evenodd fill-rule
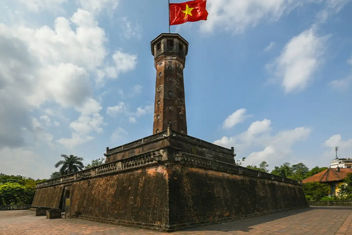
<instances>
[{"instance_id":1,"label":"brown weathered left face of lower base wall, both sides of doorway","mask_svg":"<svg viewBox=\"0 0 352 235\"><path fill-rule=\"evenodd\" d=\"M62 187L37 189L33 205L59 208ZM65 190L70 191L73 216L168 224L167 172L162 166L80 180Z\"/></svg>"}]
</instances>

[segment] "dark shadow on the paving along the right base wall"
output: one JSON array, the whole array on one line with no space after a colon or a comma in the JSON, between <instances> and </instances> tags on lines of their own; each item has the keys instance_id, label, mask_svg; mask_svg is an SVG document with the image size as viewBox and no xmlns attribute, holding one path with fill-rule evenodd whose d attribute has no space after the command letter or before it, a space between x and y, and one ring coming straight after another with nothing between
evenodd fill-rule
<instances>
[{"instance_id":1,"label":"dark shadow on the paving along the right base wall","mask_svg":"<svg viewBox=\"0 0 352 235\"><path fill-rule=\"evenodd\" d=\"M252 226L274 221L276 219L285 218L295 214L311 211L311 210L351 210L351 207L307 207L302 209L289 210L285 212L273 213L268 215L256 216L251 218L238 219L226 223L212 224L201 227L189 228L184 231L250 231Z\"/></svg>"}]
</instances>

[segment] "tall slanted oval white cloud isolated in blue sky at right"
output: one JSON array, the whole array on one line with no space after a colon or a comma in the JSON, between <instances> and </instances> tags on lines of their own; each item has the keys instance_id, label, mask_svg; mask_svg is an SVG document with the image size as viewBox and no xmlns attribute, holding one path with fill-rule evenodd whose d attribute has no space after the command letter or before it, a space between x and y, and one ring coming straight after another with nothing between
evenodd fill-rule
<instances>
[{"instance_id":1,"label":"tall slanted oval white cloud isolated in blue sky at right","mask_svg":"<svg viewBox=\"0 0 352 235\"><path fill-rule=\"evenodd\" d=\"M322 63L328 36L319 37L313 28L293 37L268 68L281 80L285 92L305 89Z\"/></svg>"}]
</instances>

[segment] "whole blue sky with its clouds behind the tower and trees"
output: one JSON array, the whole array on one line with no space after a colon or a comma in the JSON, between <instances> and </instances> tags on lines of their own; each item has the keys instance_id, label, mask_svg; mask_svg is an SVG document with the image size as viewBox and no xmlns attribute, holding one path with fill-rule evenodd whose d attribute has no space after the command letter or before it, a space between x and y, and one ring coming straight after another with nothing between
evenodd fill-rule
<instances>
[{"instance_id":1,"label":"whole blue sky with its clouds behind the tower and trees","mask_svg":"<svg viewBox=\"0 0 352 235\"><path fill-rule=\"evenodd\" d=\"M171 1L180 3L182 1ZM292 3L294 2L294 3ZM152 134L150 41L166 0L6 0L0 10L0 172L48 178ZM329 166L351 157L352 3L208 0L190 43L188 134L235 147L243 165Z\"/></svg>"}]
</instances>

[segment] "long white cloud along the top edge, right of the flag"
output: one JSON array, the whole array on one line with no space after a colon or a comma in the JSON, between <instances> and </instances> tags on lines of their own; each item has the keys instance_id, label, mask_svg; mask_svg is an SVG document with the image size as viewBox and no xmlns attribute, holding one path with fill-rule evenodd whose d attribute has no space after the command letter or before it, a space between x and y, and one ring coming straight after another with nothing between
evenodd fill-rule
<instances>
[{"instance_id":1,"label":"long white cloud along the top edge, right of the flag","mask_svg":"<svg viewBox=\"0 0 352 235\"><path fill-rule=\"evenodd\" d=\"M320 4L323 10L318 14L319 21L337 13L349 0L208 0L208 20L202 22L203 32L214 29L240 33L247 27L254 27L263 20L278 21L284 14L308 4Z\"/></svg>"}]
</instances>

